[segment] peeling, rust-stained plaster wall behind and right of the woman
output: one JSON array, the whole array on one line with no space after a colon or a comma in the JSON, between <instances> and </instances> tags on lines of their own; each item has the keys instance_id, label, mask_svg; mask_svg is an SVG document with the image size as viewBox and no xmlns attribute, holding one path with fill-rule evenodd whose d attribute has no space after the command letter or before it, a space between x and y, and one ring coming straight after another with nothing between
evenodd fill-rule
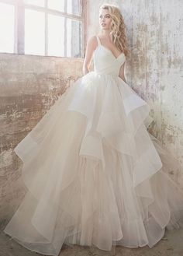
<instances>
[{"instance_id":1,"label":"peeling, rust-stained plaster wall behind and right of the woman","mask_svg":"<svg viewBox=\"0 0 183 256\"><path fill-rule=\"evenodd\" d=\"M88 37L99 33L102 3L121 9L131 54L126 79L151 107L150 132L183 165L183 2L181 0L88 1ZM183 188L183 170L173 174Z\"/></svg>"}]
</instances>

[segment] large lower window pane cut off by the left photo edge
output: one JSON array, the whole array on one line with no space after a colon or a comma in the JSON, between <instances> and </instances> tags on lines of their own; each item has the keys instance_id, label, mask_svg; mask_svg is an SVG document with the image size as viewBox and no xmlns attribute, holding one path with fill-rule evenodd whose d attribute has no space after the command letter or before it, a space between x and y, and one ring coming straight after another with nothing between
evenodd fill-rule
<instances>
[{"instance_id":1,"label":"large lower window pane cut off by the left photo edge","mask_svg":"<svg viewBox=\"0 0 183 256\"><path fill-rule=\"evenodd\" d=\"M14 6L0 3L0 51L14 52Z\"/></svg>"}]
</instances>

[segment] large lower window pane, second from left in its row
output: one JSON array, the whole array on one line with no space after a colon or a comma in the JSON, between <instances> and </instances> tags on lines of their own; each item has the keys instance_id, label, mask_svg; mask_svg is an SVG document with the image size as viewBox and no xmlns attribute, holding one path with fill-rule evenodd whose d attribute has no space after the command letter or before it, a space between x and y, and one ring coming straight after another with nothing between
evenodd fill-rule
<instances>
[{"instance_id":1,"label":"large lower window pane, second from left in its row","mask_svg":"<svg viewBox=\"0 0 183 256\"><path fill-rule=\"evenodd\" d=\"M25 54L45 54L45 14L25 10Z\"/></svg>"}]
</instances>

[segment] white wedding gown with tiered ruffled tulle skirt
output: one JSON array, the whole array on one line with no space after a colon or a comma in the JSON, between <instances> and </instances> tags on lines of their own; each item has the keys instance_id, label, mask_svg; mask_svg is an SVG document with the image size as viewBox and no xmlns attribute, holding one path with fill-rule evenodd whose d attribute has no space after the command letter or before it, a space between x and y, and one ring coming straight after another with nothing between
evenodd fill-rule
<instances>
[{"instance_id":1,"label":"white wedding gown with tiered ruffled tulle skirt","mask_svg":"<svg viewBox=\"0 0 183 256\"><path fill-rule=\"evenodd\" d=\"M40 254L153 247L165 227L183 227L183 191L169 174L178 161L147 131L150 106L119 77L125 54L97 39L94 71L15 148L27 192L4 232Z\"/></svg>"}]
</instances>

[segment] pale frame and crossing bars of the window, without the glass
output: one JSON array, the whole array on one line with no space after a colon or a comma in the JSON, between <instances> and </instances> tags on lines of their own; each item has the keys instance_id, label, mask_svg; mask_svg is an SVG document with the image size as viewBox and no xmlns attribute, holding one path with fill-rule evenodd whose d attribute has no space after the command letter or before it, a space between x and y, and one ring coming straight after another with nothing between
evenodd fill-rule
<instances>
[{"instance_id":1,"label":"pale frame and crossing bars of the window, without the glass","mask_svg":"<svg viewBox=\"0 0 183 256\"><path fill-rule=\"evenodd\" d=\"M64 0L67 2L67 0ZM8 5L14 5L15 6L15 22L14 22L14 54L25 54L25 9L31 9L39 12L43 12L45 14L45 54L39 55L39 56L52 56L47 54L48 49L48 37L47 37L47 29L48 29L48 15L52 14L54 16L61 16L65 18L69 18L72 20L77 20L82 23L82 48L81 48L81 58L84 58L85 55L85 34L86 34L86 9L87 9L87 1L80 0L81 2L81 16L77 16L74 14L67 13L66 7L64 12L60 12L54 9L48 8L48 0L45 0L44 7L38 6L38 5L30 5L27 3L24 3L23 0L0 0L1 3L5 3ZM65 5L66 6L66 5ZM66 33L66 23L64 23L65 26L65 32ZM66 38L66 37L65 37ZM66 45L67 42L65 41L64 44ZM66 56L66 47L64 47L65 52L64 56L55 56L55 57L63 57L63 58L70 58ZM3 53L3 52L0 52ZM29 55L29 54L25 54ZM33 54L36 55L36 54ZM71 57L72 58L72 57Z\"/></svg>"}]
</instances>

